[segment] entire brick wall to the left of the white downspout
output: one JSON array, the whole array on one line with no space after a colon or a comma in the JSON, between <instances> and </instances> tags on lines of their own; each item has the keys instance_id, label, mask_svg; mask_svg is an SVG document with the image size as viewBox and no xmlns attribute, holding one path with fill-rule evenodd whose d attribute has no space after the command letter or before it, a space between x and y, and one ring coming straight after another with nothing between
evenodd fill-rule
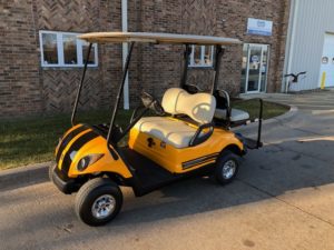
<instances>
[{"instance_id":1,"label":"entire brick wall to the left of the white downspout","mask_svg":"<svg viewBox=\"0 0 334 250\"><path fill-rule=\"evenodd\" d=\"M82 69L41 68L39 30L119 31L120 1L1 0L0 117L71 110ZM99 67L88 70L80 100L86 108L110 106L120 78L120 47L98 51Z\"/></svg>"}]
</instances>

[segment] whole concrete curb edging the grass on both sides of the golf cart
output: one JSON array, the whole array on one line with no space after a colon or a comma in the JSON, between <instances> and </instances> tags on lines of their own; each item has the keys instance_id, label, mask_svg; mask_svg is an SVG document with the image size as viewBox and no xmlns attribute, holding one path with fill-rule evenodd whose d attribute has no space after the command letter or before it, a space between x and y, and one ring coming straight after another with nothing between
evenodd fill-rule
<instances>
[{"instance_id":1,"label":"whole concrete curb edging the grass on both sides of the golf cart","mask_svg":"<svg viewBox=\"0 0 334 250\"><path fill-rule=\"evenodd\" d=\"M276 118L264 120L263 124L275 124L283 120L289 120L297 113L297 111L298 108L293 106L286 113ZM248 126L236 128L233 131L239 132L248 129L255 129L257 127L258 123L253 122ZM9 190L48 181L48 167L51 163L51 161L48 161L0 171L0 190Z\"/></svg>"}]
</instances>

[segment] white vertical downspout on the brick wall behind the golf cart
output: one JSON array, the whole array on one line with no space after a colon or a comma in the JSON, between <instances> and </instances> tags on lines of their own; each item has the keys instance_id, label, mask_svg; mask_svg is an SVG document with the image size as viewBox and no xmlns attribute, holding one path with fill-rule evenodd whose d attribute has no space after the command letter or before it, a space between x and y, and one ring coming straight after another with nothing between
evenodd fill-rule
<instances>
[{"instance_id":1,"label":"white vertical downspout on the brick wall behind the golf cart","mask_svg":"<svg viewBox=\"0 0 334 250\"><path fill-rule=\"evenodd\" d=\"M128 31L128 1L121 0L121 31ZM122 43L122 66L125 66L127 56L128 56L128 43ZM129 107L129 73L126 76L125 86L124 86L124 109L128 110Z\"/></svg>"}]
</instances>

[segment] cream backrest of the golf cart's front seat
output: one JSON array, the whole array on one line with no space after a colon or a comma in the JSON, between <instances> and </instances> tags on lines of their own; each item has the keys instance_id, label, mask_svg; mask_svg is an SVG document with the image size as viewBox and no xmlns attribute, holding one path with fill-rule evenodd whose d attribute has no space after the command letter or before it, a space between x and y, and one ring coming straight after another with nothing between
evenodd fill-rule
<instances>
[{"instance_id":1,"label":"cream backrest of the golf cart's front seat","mask_svg":"<svg viewBox=\"0 0 334 250\"><path fill-rule=\"evenodd\" d=\"M200 124L212 122L216 99L209 93L190 94L184 89L168 89L163 98L163 108L170 114L187 114Z\"/></svg>"}]
</instances>

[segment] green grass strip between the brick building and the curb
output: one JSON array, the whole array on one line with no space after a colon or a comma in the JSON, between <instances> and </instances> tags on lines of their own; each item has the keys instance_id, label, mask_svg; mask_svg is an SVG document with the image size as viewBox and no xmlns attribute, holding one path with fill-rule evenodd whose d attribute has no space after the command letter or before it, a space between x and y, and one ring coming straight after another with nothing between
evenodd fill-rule
<instances>
[{"instance_id":1,"label":"green grass strip between the brick building and the curb","mask_svg":"<svg viewBox=\"0 0 334 250\"><path fill-rule=\"evenodd\" d=\"M257 118L257 101L234 101L234 108L246 110ZM287 111L284 106L266 102L264 118L279 116ZM127 124L131 112L120 111L118 123ZM78 121L101 123L109 121L110 111L99 110L78 114ZM58 138L70 128L70 114L19 118L0 121L0 169L53 160ZM124 127L125 128L125 127Z\"/></svg>"}]
</instances>

